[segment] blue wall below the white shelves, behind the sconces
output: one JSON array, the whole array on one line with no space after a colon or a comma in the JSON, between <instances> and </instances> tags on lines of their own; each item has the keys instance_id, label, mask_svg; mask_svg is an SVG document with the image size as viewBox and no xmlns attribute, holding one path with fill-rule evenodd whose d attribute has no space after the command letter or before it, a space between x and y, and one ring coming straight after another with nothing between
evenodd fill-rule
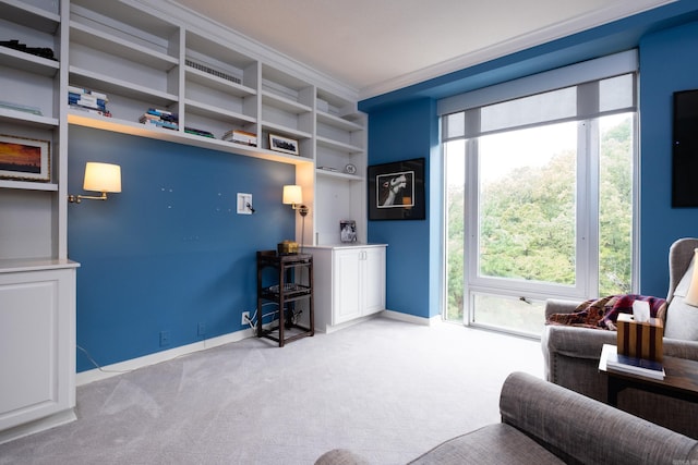
<instances>
[{"instance_id":1,"label":"blue wall below the white shelves, behind the sconces","mask_svg":"<svg viewBox=\"0 0 698 465\"><path fill-rule=\"evenodd\" d=\"M122 170L122 193L68 206L77 344L109 365L243 329L256 250L294 237L294 211L281 204L294 167L80 126L69 152L71 194L92 194L86 161ZM254 215L236 213L237 193L253 195ZM77 371L92 368L79 351Z\"/></svg>"}]
</instances>

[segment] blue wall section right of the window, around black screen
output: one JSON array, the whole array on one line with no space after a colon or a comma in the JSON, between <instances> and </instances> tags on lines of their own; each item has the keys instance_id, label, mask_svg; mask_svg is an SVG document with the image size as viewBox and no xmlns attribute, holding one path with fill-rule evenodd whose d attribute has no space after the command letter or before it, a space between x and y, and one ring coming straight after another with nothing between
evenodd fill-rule
<instances>
[{"instance_id":1,"label":"blue wall section right of the window, around black screen","mask_svg":"<svg viewBox=\"0 0 698 465\"><path fill-rule=\"evenodd\" d=\"M664 295L669 247L698 236L698 209L671 208L672 99L674 91L698 88L698 22L646 36L640 79L640 287Z\"/></svg>"}]
</instances>

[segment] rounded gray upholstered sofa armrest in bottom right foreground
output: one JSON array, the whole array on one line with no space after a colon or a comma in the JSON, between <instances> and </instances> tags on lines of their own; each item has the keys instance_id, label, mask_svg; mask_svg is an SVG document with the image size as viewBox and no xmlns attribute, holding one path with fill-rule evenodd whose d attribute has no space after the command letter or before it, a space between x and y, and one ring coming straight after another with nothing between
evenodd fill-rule
<instances>
[{"instance_id":1,"label":"rounded gray upholstered sofa armrest in bottom right foreground","mask_svg":"<svg viewBox=\"0 0 698 465\"><path fill-rule=\"evenodd\" d=\"M515 372L500 397L502 421L566 463L691 463L696 440L568 389Z\"/></svg>"}]
</instances>

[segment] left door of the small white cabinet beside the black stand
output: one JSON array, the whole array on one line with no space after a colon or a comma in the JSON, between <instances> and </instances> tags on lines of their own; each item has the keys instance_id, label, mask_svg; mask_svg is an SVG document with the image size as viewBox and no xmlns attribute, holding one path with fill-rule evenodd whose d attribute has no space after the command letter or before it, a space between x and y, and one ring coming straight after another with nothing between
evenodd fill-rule
<instances>
[{"instance_id":1,"label":"left door of the small white cabinet beside the black stand","mask_svg":"<svg viewBox=\"0 0 698 465\"><path fill-rule=\"evenodd\" d=\"M335 252L335 297L333 302L333 325L349 321L362 314L360 250Z\"/></svg>"}]
</instances>

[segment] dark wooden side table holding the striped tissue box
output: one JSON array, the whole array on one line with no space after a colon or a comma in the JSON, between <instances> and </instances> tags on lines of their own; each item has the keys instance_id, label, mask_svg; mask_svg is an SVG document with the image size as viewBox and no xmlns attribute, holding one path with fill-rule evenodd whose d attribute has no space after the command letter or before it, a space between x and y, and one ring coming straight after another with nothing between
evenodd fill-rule
<instances>
[{"instance_id":1,"label":"dark wooden side table holding the striped tissue box","mask_svg":"<svg viewBox=\"0 0 698 465\"><path fill-rule=\"evenodd\" d=\"M658 380L607 369L606 359L609 354L616 351L617 347L615 345L603 344L601 358L599 359L599 371L606 375L609 383L606 397L609 405L617 406L618 393L626 388L698 402L698 362L664 356L662 365L664 365L666 376L663 380Z\"/></svg>"}]
</instances>

